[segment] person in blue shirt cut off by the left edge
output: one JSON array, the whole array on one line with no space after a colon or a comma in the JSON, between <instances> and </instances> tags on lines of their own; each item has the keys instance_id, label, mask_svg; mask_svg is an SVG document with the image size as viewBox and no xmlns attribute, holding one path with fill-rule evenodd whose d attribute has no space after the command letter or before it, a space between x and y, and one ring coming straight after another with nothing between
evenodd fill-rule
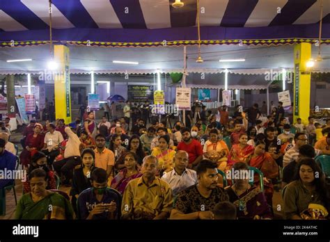
<instances>
[{"instance_id":1,"label":"person in blue shirt cut off by the left edge","mask_svg":"<svg viewBox=\"0 0 330 242\"><path fill-rule=\"evenodd\" d=\"M3 171L3 175L9 171L15 170L17 157L12 153L5 150L6 140L0 138L0 170ZM13 183L13 179L6 179L6 177L0 177L0 189Z\"/></svg>"}]
</instances>

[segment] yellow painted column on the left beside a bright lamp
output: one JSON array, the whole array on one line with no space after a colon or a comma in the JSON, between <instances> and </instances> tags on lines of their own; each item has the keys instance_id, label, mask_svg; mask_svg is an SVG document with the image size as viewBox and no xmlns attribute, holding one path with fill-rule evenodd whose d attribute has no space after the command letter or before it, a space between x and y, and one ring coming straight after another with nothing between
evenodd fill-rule
<instances>
[{"instance_id":1,"label":"yellow painted column on the left beside a bright lamp","mask_svg":"<svg viewBox=\"0 0 330 242\"><path fill-rule=\"evenodd\" d=\"M58 72L54 79L56 119L63 118L65 124L69 124L71 122L69 48L55 45L54 57L58 63Z\"/></svg>"}]
</instances>

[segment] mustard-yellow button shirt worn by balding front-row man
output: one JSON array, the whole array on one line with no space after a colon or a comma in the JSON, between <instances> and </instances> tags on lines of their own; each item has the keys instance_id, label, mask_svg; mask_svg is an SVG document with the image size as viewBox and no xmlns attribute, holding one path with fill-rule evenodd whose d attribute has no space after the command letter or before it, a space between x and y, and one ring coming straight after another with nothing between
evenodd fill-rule
<instances>
[{"instance_id":1,"label":"mustard-yellow button shirt worn by balding front-row man","mask_svg":"<svg viewBox=\"0 0 330 242\"><path fill-rule=\"evenodd\" d=\"M122 215L146 211L158 216L162 212L171 212L173 207L173 196L170 186L155 177L150 186L139 177L129 181L125 188L122 202Z\"/></svg>"}]
</instances>

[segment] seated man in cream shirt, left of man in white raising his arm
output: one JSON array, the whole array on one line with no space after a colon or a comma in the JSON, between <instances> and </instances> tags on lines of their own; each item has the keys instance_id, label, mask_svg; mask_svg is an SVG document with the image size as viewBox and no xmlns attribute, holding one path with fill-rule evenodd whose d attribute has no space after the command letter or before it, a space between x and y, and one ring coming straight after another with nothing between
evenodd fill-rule
<instances>
[{"instance_id":1,"label":"seated man in cream shirt, left of man in white raising his arm","mask_svg":"<svg viewBox=\"0 0 330 242\"><path fill-rule=\"evenodd\" d=\"M59 146L63 141L63 136L60 131L56 131L56 126L54 124L49 124L47 134L45 135L44 147L42 152L47 155L47 163L52 165L54 159L58 154L60 154Z\"/></svg>"}]
</instances>

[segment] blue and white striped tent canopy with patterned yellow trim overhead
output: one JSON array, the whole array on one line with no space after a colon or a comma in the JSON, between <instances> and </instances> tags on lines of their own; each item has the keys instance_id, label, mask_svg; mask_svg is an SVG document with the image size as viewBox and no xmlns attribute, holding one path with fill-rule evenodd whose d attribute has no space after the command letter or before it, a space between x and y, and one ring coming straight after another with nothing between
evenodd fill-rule
<instances>
[{"instance_id":1,"label":"blue and white striped tent canopy with patterned yellow trim overhead","mask_svg":"<svg viewBox=\"0 0 330 242\"><path fill-rule=\"evenodd\" d=\"M52 0L55 42L104 47L196 45L197 0ZM200 0L203 45L315 41L320 0ZM322 43L330 44L324 0ZM0 46L49 41L49 0L0 0Z\"/></svg>"}]
</instances>

